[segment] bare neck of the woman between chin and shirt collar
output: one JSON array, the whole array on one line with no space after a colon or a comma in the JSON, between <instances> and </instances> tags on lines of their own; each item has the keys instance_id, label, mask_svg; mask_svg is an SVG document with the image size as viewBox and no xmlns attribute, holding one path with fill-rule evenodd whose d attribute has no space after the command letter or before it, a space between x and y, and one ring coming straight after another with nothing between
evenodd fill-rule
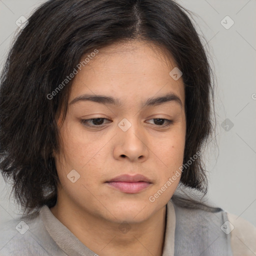
<instances>
[{"instance_id":1,"label":"bare neck of the woman between chin and shirt collar","mask_svg":"<svg viewBox=\"0 0 256 256\"><path fill-rule=\"evenodd\" d=\"M50 208L86 247L100 256L161 256L164 244L166 205L139 223L110 222L74 204L59 200Z\"/></svg>"}]
</instances>

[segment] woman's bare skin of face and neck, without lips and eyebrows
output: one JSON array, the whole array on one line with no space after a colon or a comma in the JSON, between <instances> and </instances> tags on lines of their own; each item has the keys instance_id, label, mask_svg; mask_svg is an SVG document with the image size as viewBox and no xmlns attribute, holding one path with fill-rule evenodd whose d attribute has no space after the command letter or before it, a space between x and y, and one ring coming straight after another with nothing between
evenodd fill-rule
<instances>
[{"instance_id":1,"label":"woman's bare skin of face and neck, without lips and eyebrows","mask_svg":"<svg viewBox=\"0 0 256 256\"><path fill-rule=\"evenodd\" d=\"M60 184L57 203L50 210L100 256L162 254L166 204L179 177L154 202L148 198L183 160L185 94L182 77L174 80L169 75L173 67L175 61L159 46L126 41L100 48L74 77L67 115L63 124L59 122L60 151L54 157ZM182 105L171 100L141 106L148 98L169 92ZM89 100L71 103L85 93L115 97L120 105ZM106 118L100 125L92 120L87 123L91 127L81 122L99 117ZM123 118L131 123L126 131L118 126ZM173 122L165 126L167 121L153 118ZM74 183L67 178L72 169L80 175ZM120 174L136 173L152 181L137 193L105 183Z\"/></svg>"}]
</instances>

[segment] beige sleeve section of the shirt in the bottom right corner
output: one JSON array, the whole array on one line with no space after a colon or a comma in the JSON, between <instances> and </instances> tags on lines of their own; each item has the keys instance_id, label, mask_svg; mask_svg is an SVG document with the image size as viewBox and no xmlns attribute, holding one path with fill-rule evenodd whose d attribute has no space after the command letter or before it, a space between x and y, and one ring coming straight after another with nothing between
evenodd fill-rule
<instances>
[{"instance_id":1,"label":"beige sleeve section of the shirt in the bottom right corner","mask_svg":"<svg viewBox=\"0 0 256 256\"><path fill-rule=\"evenodd\" d=\"M242 217L227 212L231 230L233 256L256 255L256 226Z\"/></svg>"}]
</instances>

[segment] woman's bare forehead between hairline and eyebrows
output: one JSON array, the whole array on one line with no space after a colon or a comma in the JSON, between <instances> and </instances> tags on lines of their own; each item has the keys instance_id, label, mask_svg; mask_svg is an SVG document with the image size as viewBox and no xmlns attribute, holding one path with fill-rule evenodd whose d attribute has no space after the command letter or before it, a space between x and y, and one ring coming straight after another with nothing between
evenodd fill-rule
<instances>
[{"instance_id":1,"label":"woman's bare forehead between hairline and eyebrows","mask_svg":"<svg viewBox=\"0 0 256 256\"><path fill-rule=\"evenodd\" d=\"M85 54L81 61L88 55ZM176 66L163 48L143 41L115 43L98 53L75 75L69 102L82 93L137 97L173 92L184 103L182 77L174 80L169 72Z\"/></svg>"}]
</instances>

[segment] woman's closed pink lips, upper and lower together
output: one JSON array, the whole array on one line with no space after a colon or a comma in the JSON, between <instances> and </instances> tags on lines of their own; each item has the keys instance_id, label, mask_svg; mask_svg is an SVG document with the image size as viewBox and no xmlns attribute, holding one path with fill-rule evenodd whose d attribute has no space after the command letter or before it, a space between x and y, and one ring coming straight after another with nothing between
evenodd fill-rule
<instances>
[{"instance_id":1,"label":"woman's closed pink lips, upper and lower together","mask_svg":"<svg viewBox=\"0 0 256 256\"><path fill-rule=\"evenodd\" d=\"M138 193L152 184L151 180L142 174L133 176L123 174L106 181L106 183L124 193Z\"/></svg>"}]
</instances>

